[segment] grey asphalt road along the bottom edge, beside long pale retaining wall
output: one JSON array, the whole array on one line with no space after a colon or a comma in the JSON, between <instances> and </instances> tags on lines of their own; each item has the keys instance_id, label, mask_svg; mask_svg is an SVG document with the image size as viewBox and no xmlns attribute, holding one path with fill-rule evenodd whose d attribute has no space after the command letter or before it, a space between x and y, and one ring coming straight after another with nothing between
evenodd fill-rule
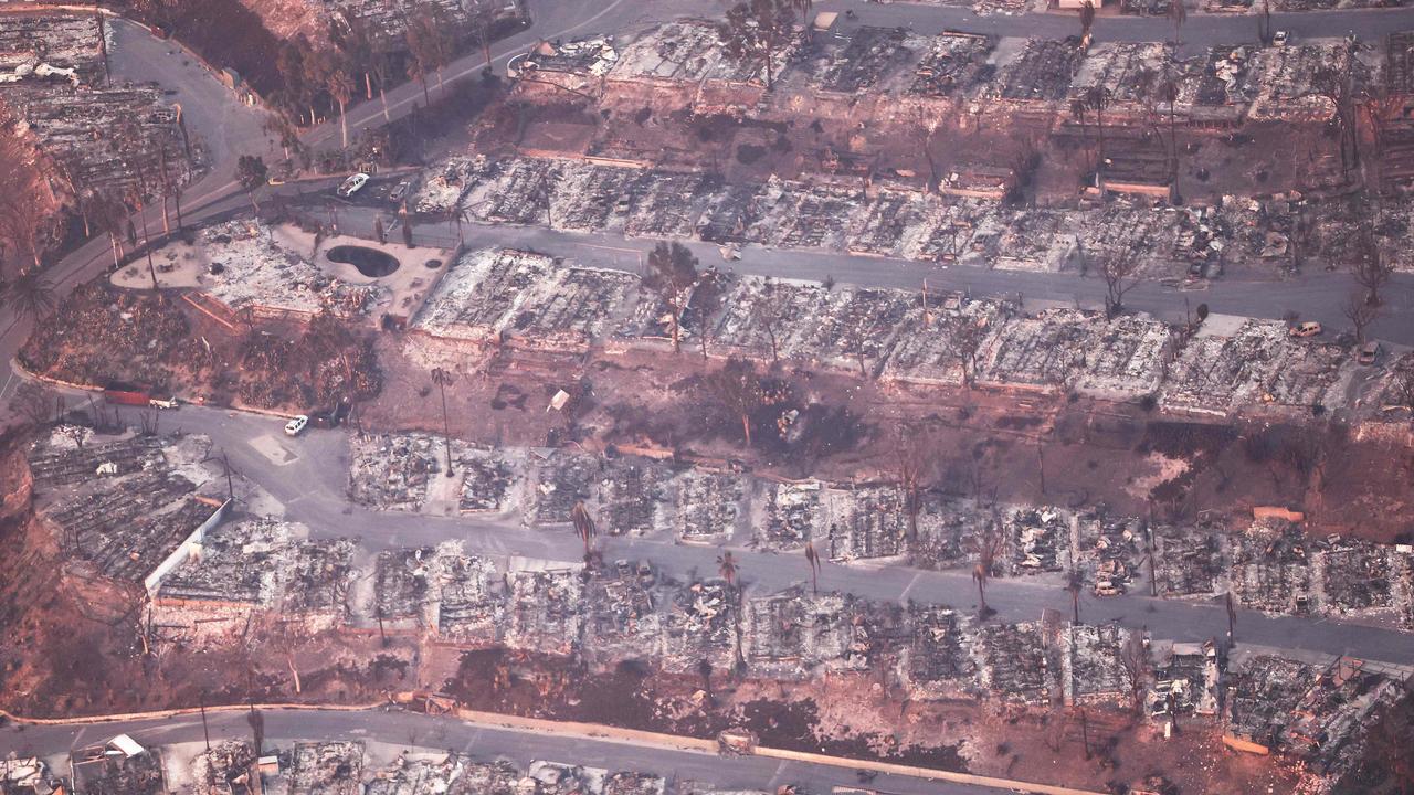
<instances>
[{"instance_id":1,"label":"grey asphalt road along the bottom edge, beside long pale retaining wall","mask_svg":"<svg viewBox=\"0 0 1414 795\"><path fill-rule=\"evenodd\" d=\"M697 781L721 789L775 791L781 784L805 785L809 792L830 792L831 787L857 787L848 768L778 761L761 757L718 757L715 754L635 745L614 740L584 740L539 731L518 731L468 723L444 716L404 712L266 710L266 743L288 747L294 741L365 740L404 748L455 750L477 760L505 758L525 770L532 761L570 762L609 771L653 772L676 781ZM249 741L245 713L211 713L212 743L225 738ZM89 727L8 726L0 729L0 757L49 757L126 733L139 743L171 745L204 741L199 717L105 723ZM269 745L267 745L269 747ZM880 775L871 789L901 795L950 795L995 792L918 778Z\"/></svg>"}]
</instances>

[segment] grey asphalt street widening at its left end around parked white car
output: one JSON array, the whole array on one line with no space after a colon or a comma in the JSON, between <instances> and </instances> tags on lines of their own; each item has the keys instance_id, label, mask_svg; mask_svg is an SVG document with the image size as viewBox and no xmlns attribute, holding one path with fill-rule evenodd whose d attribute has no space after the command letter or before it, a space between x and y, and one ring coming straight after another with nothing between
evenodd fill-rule
<instances>
[{"instance_id":1,"label":"grey asphalt street widening at its left end around parked white car","mask_svg":"<svg viewBox=\"0 0 1414 795\"><path fill-rule=\"evenodd\" d=\"M570 528L526 528L516 518L477 519L434 516L396 511L369 511L355 506L345 497L348 437L342 430L311 430L297 439L281 436L283 420L184 406L164 414L164 427L202 433L223 450L232 467L286 504L286 518L305 523L315 538L356 538L369 549L434 546L460 539L468 552L506 557L525 556L578 564L583 542ZM274 434L294 455L284 465L274 465L250 446L250 440ZM769 593L809 580L802 555L756 552L747 538L734 539L728 547L737 556L742 583L749 593ZM677 579L693 574L717 576L717 547L676 543L669 538L601 536L597 542L607 560L648 559L662 571ZM950 604L963 611L974 610L977 588L962 570L923 571L904 566L837 564L826 562L820 588L840 590L872 600L916 600ZM1148 628L1155 638L1205 641L1222 638L1227 631L1223 607L1216 601L1179 601L1151 598L1148 584L1138 581L1118 597L1080 598L1085 621L1118 621L1130 628ZM998 579L987 586L987 604L1005 621L1029 621L1044 608L1070 614L1070 594L1055 577ZM1284 648L1298 652L1414 663L1414 634L1383 629L1328 618L1268 617L1240 610L1236 638L1240 644Z\"/></svg>"}]
</instances>

